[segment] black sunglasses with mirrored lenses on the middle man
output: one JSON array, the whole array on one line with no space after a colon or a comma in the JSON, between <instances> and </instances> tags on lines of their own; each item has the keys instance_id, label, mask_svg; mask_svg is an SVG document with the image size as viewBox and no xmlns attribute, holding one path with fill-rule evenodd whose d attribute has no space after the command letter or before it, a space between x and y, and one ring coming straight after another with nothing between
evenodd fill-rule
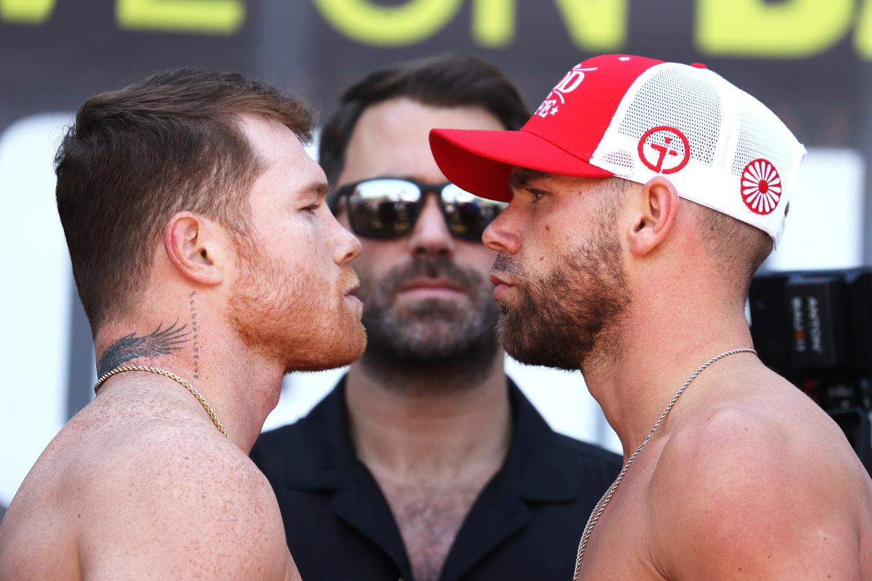
<instances>
[{"instance_id":1,"label":"black sunglasses with mirrored lenses on the middle man","mask_svg":"<svg viewBox=\"0 0 872 581\"><path fill-rule=\"evenodd\" d=\"M337 212L345 198L351 230L364 238L390 240L412 232L424 207L426 193L436 193L448 231L462 240L481 240L485 228L508 206L480 198L450 182L422 184L414 179L364 179L337 189L330 210Z\"/></svg>"}]
</instances>

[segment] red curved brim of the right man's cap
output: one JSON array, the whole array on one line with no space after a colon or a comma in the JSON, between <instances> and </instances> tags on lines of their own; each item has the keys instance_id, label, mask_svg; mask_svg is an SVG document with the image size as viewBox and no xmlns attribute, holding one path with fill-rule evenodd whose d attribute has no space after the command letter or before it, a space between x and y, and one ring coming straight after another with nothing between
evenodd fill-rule
<instances>
[{"instance_id":1,"label":"red curved brim of the right man's cap","mask_svg":"<svg viewBox=\"0 0 872 581\"><path fill-rule=\"evenodd\" d=\"M430 149L447 179L467 192L503 202L512 199L508 179L514 166L587 178L614 175L523 130L433 129Z\"/></svg>"}]
</instances>

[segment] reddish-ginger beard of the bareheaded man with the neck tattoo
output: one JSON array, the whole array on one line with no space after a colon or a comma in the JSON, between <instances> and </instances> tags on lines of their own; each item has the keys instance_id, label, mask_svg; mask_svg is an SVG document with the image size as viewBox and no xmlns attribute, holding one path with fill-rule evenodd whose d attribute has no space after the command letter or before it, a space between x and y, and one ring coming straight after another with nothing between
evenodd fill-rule
<instances>
[{"instance_id":1,"label":"reddish-ginger beard of the bareheaded man with the neck tattoo","mask_svg":"<svg viewBox=\"0 0 872 581\"><path fill-rule=\"evenodd\" d=\"M228 304L228 319L246 347L285 374L322 371L358 359L366 333L334 295L351 283L351 267L337 287L301 272L289 273L255 248L245 248L242 275ZM331 299L335 299L331 303Z\"/></svg>"}]
</instances>

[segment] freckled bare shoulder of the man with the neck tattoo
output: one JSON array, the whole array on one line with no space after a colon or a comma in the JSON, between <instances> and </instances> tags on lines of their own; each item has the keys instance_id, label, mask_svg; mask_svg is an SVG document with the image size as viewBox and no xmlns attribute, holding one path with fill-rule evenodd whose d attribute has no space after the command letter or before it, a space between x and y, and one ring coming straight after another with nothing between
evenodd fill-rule
<instances>
[{"instance_id":1,"label":"freckled bare shoulder of the man with the neck tattoo","mask_svg":"<svg viewBox=\"0 0 872 581\"><path fill-rule=\"evenodd\" d=\"M92 475L85 577L284 579L292 567L269 483L219 435L146 431L108 450Z\"/></svg>"}]
</instances>

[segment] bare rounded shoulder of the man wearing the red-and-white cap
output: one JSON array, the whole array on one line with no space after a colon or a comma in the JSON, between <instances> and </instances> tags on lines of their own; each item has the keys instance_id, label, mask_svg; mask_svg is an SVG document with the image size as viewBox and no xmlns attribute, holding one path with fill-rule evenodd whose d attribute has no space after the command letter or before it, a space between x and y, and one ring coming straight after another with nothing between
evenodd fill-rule
<instances>
[{"instance_id":1,"label":"bare rounded shoulder of the man wearing the red-and-white cap","mask_svg":"<svg viewBox=\"0 0 872 581\"><path fill-rule=\"evenodd\" d=\"M869 476L806 395L774 374L752 387L696 409L664 444L648 499L659 566L670 578L861 578Z\"/></svg>"}]
</instances>

